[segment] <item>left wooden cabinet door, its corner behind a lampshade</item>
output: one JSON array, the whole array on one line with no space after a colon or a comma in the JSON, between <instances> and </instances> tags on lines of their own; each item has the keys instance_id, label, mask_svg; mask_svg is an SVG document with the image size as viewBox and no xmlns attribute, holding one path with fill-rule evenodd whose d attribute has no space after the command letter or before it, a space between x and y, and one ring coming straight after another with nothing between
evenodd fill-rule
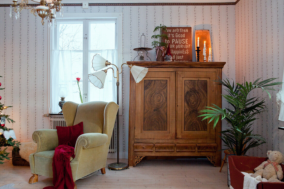
<instances>
[{"instance_id":1,"label":"left wooden cabinet door, its corner behind a lampshade","mask_svg":"<svg viewBox=\"0 0 284 189\"><path fill-rule=\"evenodd\" d=\"M135 99L135 138L175 138L176 72L148 72Z\"/></svg>"}]
</instances>

